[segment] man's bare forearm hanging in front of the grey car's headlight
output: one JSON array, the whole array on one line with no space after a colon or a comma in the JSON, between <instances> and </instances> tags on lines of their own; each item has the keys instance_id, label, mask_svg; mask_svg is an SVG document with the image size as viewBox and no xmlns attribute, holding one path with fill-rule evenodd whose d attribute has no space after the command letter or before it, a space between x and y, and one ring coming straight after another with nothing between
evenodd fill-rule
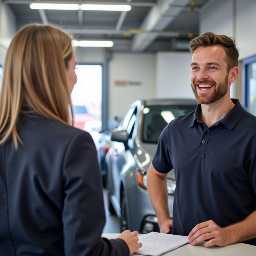
<instances>
[{"instance_id":1,"label":"man's bare forearm hanging in front of the grey car's headlight","mask_svg":"<svg viewBox=\"0 0 256 256\"><path fill-rule=\"evenodd\" d=\"M147 189L151 204L155 210L158 224L170 219L168 209L167 177L160 177L152 172L147 174Z\"/></svg>"}]
</instances>

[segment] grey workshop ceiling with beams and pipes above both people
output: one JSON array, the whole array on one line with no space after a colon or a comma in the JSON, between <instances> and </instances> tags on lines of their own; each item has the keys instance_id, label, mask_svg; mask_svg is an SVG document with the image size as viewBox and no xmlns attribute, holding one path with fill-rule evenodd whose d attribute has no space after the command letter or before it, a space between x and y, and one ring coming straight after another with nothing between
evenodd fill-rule
<instances>
[{"instance_id":1,"label":"grey workshop ceiling with beams and pipes above both people","mask_svg":"<svg viewBox=\"0 0 256 256\"><path fill-rule=\"evenodd\" d=\"M187 51L191 36L197 36L199 33L200 12L213 1L3 0L16 16L17 29L31 22L49 22L60 25L78 38L77 40L112 40L114 46L108 49L111 52ZM120 12L29 8L30 3L38 2L129 4L132 9L129 12Z\"/></svg>"}]
</instances>

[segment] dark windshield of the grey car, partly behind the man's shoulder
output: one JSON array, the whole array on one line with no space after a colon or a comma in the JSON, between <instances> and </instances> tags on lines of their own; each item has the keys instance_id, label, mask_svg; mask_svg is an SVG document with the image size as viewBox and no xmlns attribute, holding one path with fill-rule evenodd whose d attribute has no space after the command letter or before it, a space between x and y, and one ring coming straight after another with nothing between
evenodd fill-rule
<instances>
[{"instance_id":1,"label":"dark windshield of the grey car, partly behind the man's shoulder","mask_svg":"<svg viewBox=\"0 0 256 256\"><path fill-rule=\"evenodd\" d=\"M196 105L148 106L143 109L143 142L157 143L164 127L179 115L190 113Z\"/></svg>"}]
</instances>

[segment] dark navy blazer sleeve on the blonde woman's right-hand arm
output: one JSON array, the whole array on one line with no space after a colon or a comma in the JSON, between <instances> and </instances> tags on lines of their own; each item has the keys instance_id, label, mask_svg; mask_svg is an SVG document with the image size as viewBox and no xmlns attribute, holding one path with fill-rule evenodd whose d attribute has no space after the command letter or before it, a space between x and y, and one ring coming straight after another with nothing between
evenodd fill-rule
<instances>
[{"instance_id":1,"label":"dark navy blazer sleeve on the blonde woman's right-hand arm","mask_svg":"<svg viewBox=\"0 0 256 256\"><path fill-rule=\"evenodd\" d=\"M121 239L101 238L105 211L97 151L89 133L71 139L63 161L63 234L65 255L128 256Z\"/></svg>"}]
</instances>

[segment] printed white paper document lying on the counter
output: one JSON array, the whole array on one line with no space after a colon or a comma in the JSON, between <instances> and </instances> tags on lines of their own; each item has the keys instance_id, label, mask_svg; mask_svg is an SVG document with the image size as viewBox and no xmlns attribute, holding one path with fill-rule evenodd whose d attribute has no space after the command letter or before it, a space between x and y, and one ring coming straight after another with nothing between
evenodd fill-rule
<instances>
[{"instance_id":1,"label":"printed white paper document lying on the counter","mask_svg":"<svg viewBox=\"0 0 256 256\"><path fill-rule=\"evenodd\" d=\"M135 253L140 255L159 256L188 243L187 236L150 232L138 237L142 247Z\"/></svg>"}]
</instances>

